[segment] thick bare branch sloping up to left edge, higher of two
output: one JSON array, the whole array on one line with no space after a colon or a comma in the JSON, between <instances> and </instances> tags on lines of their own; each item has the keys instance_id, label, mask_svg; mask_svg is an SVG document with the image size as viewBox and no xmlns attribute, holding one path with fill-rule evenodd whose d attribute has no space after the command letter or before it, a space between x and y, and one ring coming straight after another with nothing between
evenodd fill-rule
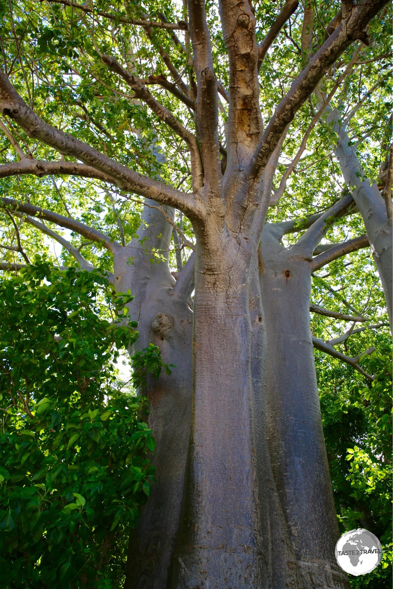
<instances>
[{"instance_id":1,"label":"thick bare branch sloping up to left edge, higher of two","mask_svg":"<svg viewBox=\"0 0 393 589\"><path fill-rule=\"evenodd\" d=\"M154 198L159 203L181 209L191 219L198 217L200 209L192 195L182 193L152 178L141 176L76 139L73 135L45 123L22 100L2 71L0 71L0 109L4 115L14 119L29 137L34 137L62 154L76 157L97 170L109 174L121 187L125 186L136 194Z\"/></svg>"}]
</instances>

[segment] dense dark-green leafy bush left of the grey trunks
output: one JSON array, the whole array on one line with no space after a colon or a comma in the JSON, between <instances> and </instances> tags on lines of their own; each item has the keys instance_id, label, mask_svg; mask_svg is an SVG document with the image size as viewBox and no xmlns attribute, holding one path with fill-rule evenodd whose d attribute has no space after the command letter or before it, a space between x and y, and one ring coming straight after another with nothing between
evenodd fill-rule
<instances>
[{"instance_id":1,"label":"dense dark-green leafy bush left of the grey trunks","mask_svg":"<svg viewBox=\"0 0 393 589\"><path fill-rule=\"evenodd\" d=\"M154 481L146 401L113 363L137 337L131 299L101 272L39 257L0 283L3 589L121 584L127 532ZM139 352L138 384L161 368L157 348Z\"/></svg>"}]
</instances>

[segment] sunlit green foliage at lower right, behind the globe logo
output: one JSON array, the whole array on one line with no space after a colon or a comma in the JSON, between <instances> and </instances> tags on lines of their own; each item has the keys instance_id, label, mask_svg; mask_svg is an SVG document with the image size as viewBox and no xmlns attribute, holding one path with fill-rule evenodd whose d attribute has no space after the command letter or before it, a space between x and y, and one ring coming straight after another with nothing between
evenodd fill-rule
<instances>
[{"instance_id":1,"label":"sunlit green foliage at lower right, behind the globe logo","mask_svg":"<svg viewBox=\"0 0 393 589\"><path fill-rule=\"evenodd\" d=\"M385 344L385 346L383 345ZM392 585L392 356L373 352L362 365L369 382L335 360L318 359L322 420L341 531L366 528L382 544L381 564L351 586Z\"/></svg>"}]
</instances>

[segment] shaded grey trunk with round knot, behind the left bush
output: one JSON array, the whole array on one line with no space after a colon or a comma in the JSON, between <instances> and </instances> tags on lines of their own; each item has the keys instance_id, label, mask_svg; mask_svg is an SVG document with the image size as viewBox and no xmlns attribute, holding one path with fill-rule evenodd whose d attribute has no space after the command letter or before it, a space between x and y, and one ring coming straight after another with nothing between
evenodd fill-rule
<instances>
[{"instance_id":1,"label":"shaded grey trunk with round knot, behind the left bush","mask_svg":"<svg viewBox=\"0 0 393 589\"><path fill-rule=\"evenodd\" d=\"M167 586L191 425L192 312L186 294L174 292L175 280L169 271L172 226L161 211L149 206L157 203L146 200L138 237L114 253L114 283L116 290L131 289L134 296L129 314L138 321L139 335L130 352L152 342L161 349L164 362L176 368L158 381L149 378L142 391L148 397L147 421L156 439L152 457L156 483L129 537L126 589ZM174 211L168 208L166 214L173 217ZM152 257L152 248L159 250L165 262Z\"/></svg>"}]
</instances>

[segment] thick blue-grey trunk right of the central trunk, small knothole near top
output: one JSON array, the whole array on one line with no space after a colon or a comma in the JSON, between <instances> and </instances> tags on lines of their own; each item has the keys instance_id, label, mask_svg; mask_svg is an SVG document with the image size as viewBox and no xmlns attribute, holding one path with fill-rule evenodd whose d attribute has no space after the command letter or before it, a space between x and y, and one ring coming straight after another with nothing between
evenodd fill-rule
<instances>
[{"instance_id":1,"label":"thick blue-grey trunk right of the central trunk, small knothole near top","mask_svg":"<svg viewBox=\"0 0 393 589\"><path fill-rule=\"evenodd\" d=\"M334 556L339 532L309 326L309 263L278 244L262 257L267 432L278 495L304 586L348 588Z\"/></svg>"}]
</instances>

